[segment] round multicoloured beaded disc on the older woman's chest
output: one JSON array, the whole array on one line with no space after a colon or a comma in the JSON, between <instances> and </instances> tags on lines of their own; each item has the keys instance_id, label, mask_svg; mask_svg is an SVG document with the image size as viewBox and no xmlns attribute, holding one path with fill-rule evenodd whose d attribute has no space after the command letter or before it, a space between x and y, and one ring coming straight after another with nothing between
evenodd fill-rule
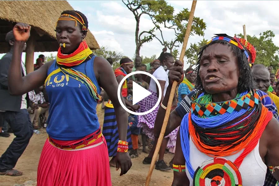
<instances>
[{"instance_id":1,"label":"round multicoloured beaded disc on the older woman's chest","mask_svg":"<svg viewBox=\"0 0 279 186\"><path fill-rule=\"evenodd\" d=\"M242 186L237 167L223 157L207 160L197 168L193 186Z\"/></svg>"}]
</instances>

